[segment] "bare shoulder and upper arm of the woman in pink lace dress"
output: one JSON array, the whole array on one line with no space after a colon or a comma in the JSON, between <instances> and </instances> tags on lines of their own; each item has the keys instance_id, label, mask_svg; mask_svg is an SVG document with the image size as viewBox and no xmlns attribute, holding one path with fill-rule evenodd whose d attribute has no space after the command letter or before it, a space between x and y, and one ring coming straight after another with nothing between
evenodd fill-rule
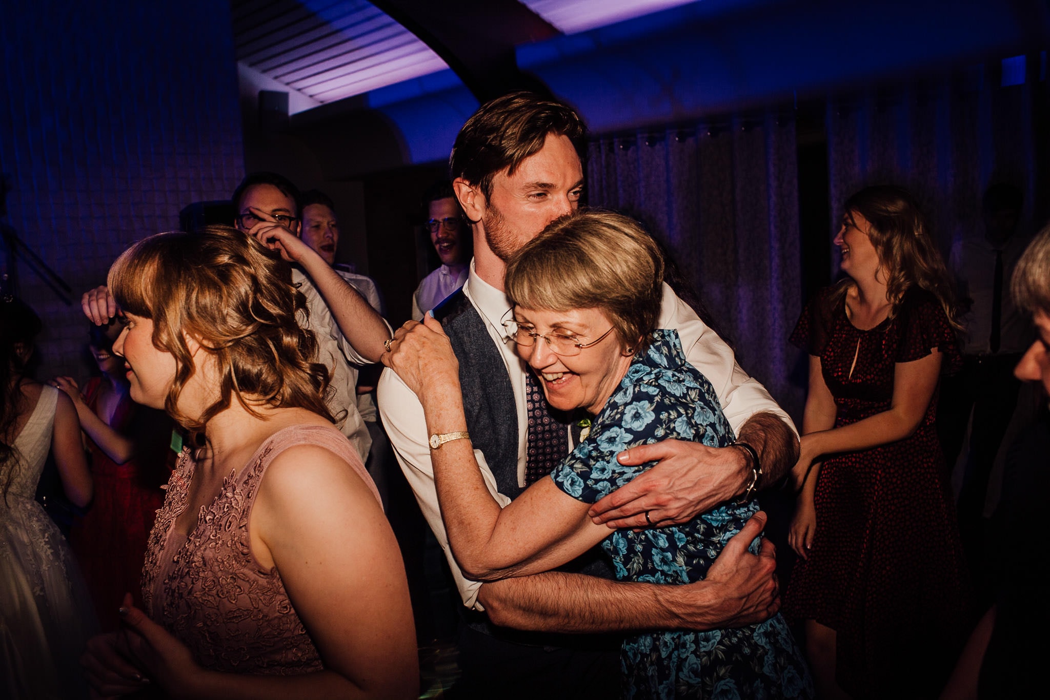
<instances>
[{"instance_id":1,"label":"bare shoulder and upper arm of the woman in pink lace dress","mask_svg":"<svg viewBox=\"0 0 1050 700\"><path fill-rule=\"evenodd\" d=\"M280 573L329 671L369 697L413 697L418 660L404 566L365 478L318 445L285 450L259 486L252 548Z\"/></svg>"}]
</instances>

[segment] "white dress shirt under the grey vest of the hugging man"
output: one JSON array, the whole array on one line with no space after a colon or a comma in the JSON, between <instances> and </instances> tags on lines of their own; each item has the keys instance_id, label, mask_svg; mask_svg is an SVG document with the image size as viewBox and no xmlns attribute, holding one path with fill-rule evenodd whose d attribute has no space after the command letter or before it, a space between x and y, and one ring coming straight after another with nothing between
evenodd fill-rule
<instances>
[{"instance_id":1,"label":"white dress shirt under the grey vest of the hugging man","mask_svg":"<svg viewBox=\"0 0 1050 700\"><path fill-rule=\"evenodd\" d=\"M500 348L500 354L507 366L507 375L513 388L514 402L518 405L518 484L525 485L526 440L528 420L525 408L525 373L527 365L514 351L514 343L505 338L501 321L508 317L510 302L506 295L483 281L474 270L470 262L470 274L463 287L463 293L477 309L492 342ZM701 321L686 302L679 299L671 288L664 285L664 301L660 317L657 322L660 328L676 328L681 338L681 346L686 357L696 369L714 386L722 411L729 419L733 430L740 426L754 413L762 410L773 411L795 429L791 418L777 402L773 400L758 381L752 379L737 364L733 351ZM479 581L472 581L463 576L448 547L448 536L445 534L444 523L441 521L441 509L438 505L438 494L434 484L434 467L430 464L429 436L426 432L426 421L423 407L416 395L391 369L384 369L379 379L379 412L383 426L394 445L401 470L408 480L408 485L416 493L416 500L426 522L445 551L448 566L452 569L456 585L463 598L463 604L482 610L478 603ZM797 431L796 431L797 432ZM506 506L510 500L497 490L496 476L485 462L485 455L480 450L474 450L478 466L488 487L488 492L500 504Z\"/></svg>"}]
</instances>

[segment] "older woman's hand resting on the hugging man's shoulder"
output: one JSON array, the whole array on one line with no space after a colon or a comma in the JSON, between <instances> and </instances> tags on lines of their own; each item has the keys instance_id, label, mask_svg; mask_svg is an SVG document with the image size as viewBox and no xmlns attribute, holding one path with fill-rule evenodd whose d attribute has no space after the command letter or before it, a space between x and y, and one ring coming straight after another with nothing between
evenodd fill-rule
<instances>
[{"instance_id":1,"label":"older woman's hand resting on the hugging man's shoulder","mask_svg":"<svg viewBox=\"0 0 1050 700\"><path fill-rule=\"evenodd\" d=\"M420 401L444 391L459 393L459 361L441 322L426 314L407 321L387 343L382 363L396 372Z\"/></svg>"}]
</instances>

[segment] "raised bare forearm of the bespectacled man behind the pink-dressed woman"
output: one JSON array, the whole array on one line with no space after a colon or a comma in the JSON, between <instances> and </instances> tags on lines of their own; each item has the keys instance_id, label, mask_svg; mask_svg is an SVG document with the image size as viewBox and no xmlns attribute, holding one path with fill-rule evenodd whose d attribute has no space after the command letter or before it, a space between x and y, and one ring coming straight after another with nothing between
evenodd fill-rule
<instances>
[{"instance_id":1,"label":"raised bare forearm of the bespectacled man behind the pink-dressed woman","mask_svg":"<svg viewBox=\"0 0 1050 700\"><path fill-rule=\"evenodd\" d=\"M376 313L368 299L345 279L330 268L319 256L300 261L324 299L339 331L357 353L372 362L378 362L385 347L383 341L391 337L390 328Z\"/></svg>"}]
</instances>

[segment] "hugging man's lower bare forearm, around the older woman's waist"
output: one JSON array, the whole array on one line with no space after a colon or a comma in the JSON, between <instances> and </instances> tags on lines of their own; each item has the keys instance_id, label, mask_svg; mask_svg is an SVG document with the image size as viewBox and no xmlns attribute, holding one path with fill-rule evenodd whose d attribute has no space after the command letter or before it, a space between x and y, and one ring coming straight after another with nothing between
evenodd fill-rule
<instances>
[{"instance_id":1,"label":"hugging man's lower bare forearm, around the older woman's waist","mask_svg":"<svg viewBox=\"0 0 1050 700\"><path fill-rule=\"evenodd\" d=\"M481 587L478 600L499 625L532 632L592 634L724 627L732 601L717 584L660 586L548 571Z\"/></svg>"}]
</instances>

